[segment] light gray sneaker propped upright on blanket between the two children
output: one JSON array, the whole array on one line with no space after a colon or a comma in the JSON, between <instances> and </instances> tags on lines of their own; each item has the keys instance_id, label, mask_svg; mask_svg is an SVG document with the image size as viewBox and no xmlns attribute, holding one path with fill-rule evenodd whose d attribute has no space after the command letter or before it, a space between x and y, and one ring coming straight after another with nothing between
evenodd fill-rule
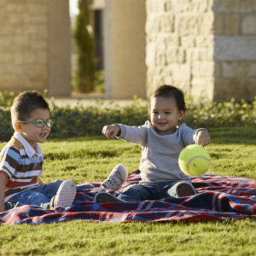
<instances>
[{"instance_id":1,"label":"light gray sneaker propped upright on blanket between the two children","mask_svg":"<svg viewBox=\"0 0 256 256\"><path fill-rule=\"evenodd\" d=\"M108 178L103 181L101 187L112 191L118 190L121 185L125 182L128 176L128 172L123 165L114 166L110 172Z\"/></svg>"}]
</instances>

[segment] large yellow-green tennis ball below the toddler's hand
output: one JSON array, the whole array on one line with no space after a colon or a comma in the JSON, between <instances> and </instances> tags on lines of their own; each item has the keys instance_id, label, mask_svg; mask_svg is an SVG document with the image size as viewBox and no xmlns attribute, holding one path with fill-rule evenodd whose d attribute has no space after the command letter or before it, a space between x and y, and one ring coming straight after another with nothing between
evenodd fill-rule
<instances>
[{"instance_id":1,"label":"large yellow-green tennis ball below the toddler's hand","mask_svg":"<svg viewBox=\"0 0 256 256\"><path fill-rule=\"evenodd\" d=\"M210 155L206 148L189 145L178 156L178 166L189 176L198 176L208 171Z\"/></svg>"}]
</instances>

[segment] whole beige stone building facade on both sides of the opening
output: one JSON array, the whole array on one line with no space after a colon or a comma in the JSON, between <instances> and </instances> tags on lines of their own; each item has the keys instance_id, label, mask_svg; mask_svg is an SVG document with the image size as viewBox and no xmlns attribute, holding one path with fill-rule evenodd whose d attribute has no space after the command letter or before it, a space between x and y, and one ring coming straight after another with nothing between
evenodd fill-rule
<instances>
[{"instance_id":1,"label":"whole beige stone building facade on both sides of the opening","mask_svg":"<svg viewBox=\"0 0 256 256\"><path fill-rule=\"evenodd\" d=\"M68 0L0 0L0 90L70 95L68 8ZM146 98L160 84L211 101L256 95L256 0L94 0L92 8L106 98Z\"/></svg>"}]
</instances>

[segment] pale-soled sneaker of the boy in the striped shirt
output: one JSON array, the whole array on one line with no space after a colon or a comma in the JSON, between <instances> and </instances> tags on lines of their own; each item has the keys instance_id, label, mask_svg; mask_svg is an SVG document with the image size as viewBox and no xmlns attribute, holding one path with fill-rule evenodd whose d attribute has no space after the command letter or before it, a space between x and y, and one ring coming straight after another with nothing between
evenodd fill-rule
<instances>
[{"instance_id":1,"label":"pale-soled sneaker of the boy in the striped shirt","mask_svg":"<svg viewBox=\"0 0 256 256\"><path fill-rule=\"evenodd\" d=\"M50 208L72 206L76 193L77 188L73 180L66 180L62 182L56 195L50 200Z\"/></svg>"}]
</instances>

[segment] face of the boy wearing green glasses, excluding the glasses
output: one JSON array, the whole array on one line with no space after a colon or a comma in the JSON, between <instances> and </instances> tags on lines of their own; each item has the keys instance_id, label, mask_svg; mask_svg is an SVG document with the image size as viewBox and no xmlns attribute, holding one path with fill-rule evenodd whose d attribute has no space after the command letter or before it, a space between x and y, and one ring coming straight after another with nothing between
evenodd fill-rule
<instances>
[{"instance_id":1,"label":"face of the boy wearing green glasses, excluding the glasses","mask_svg":"<svg viewBox=\"0 0 256 256\"><path fill-rule=\"evenodd\" d=\"M49 110L44 108L37 108L30 117L22 121L33 121L35 119L49 119ZM15 124L15 131L18 131L22 137L25 137L27 142L35 148L36 143L44 143L49 136L50 128L44 125L42 128L38 128L35 124L24 124L17 122Z\"/></svg>"}]
</instances>

